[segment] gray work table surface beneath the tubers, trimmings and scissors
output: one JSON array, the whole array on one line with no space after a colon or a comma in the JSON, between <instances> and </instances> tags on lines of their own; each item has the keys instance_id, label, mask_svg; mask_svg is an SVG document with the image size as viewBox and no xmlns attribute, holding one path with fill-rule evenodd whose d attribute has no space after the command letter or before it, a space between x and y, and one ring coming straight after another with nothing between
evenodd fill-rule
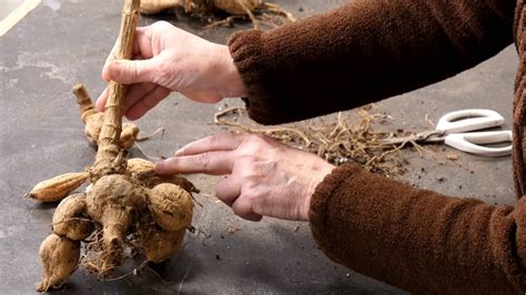
<instances>
[{"instance_id":1,"label":"gray work table surface beneath the tubers, trimmings and scissors","mask_svg":"<svg viewBox=\"0 0 526 295\"><path fill-rule=\"evenodd\" d=\"M345 1L275 1L300 18ZM100 72L118 35L121 1L42 1L0 38L0 293L34 293L41 277L38 250L51 231L57 204L39 204L22 196L38 182L81 171L95 155L71 94L83 82L95 98L103 89ZM162 18L170 19L170 14ZM172 18L173 20L173 18ZM143 18L142 23L155 19ZM237 29L202 26L186 18L173 22L214 42ZM510 28L512 29L512 28ZM352 54L352 52L350 53ZM500 112L505 129L512 121L513 82L517 57L513 47L447 81L376 103L373 112L393 119L384 130L429 129L447 111L485 108ZM380 69L378 69L380 70ZM382 85L378 85L382 87ZM345 95L345 93L342 93ZM213 114L237 100L196 104L172 94L139 120L142 132L165 128L163 136L141 143L151 155L170 155L181 145L221 131ZM513 204L510 157L485 159L443 145L429 146L434 156L407 151L408 172L398 176L418 187L444 194L478 197L490 204ZM456 153L457 161L446 159ZM132 154L140 156L134 148ZM402 293L328 260L317 248L307 223L264 218L252 223L233 215L212 195L218 177L191 175L203 194L194 226L205 234L188 234L178 256L152 271L113 282L99 282L78 269L61 293ZM140 261L127 265L132 269ZM119 274L123 274L122 272Z\"/></svg>"}]
</instances>

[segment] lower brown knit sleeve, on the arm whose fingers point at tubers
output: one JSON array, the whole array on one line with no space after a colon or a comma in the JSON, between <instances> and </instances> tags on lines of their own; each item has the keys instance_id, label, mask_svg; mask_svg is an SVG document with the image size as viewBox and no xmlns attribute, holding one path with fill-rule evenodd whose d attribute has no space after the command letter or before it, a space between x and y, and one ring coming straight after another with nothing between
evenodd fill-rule
<instances>
[{"instance_id":1,"label":"lower brown knit sleeve, on the arm whose fingers point at tubers","mask_svg":"<svg viewBox=\"0 0 526 295\"><path fill-rule=\"evenodd\" d=\"M331 258L412 293L526 291L524 197L490 206L347 165L316 187L310 218Z\"/></svg>"}]
</instances>

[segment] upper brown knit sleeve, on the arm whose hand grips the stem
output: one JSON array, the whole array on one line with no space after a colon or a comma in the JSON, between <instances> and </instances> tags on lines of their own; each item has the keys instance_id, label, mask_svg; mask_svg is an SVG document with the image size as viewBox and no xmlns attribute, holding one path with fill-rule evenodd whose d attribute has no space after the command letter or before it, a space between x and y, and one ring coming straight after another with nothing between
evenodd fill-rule
<instances>
[{"instance_id":1,"label":"upper brown knit sleeve, on the arm whose hand grips the stem","mask_svg":"<svg viewBox=\"0 0 526 295\"><path fill-rule=\"evenodd\" d=\"M513 41L515 0L355 0L229 45L250 116L297 121L454 75Z\"/></svg>"}]
</instances>

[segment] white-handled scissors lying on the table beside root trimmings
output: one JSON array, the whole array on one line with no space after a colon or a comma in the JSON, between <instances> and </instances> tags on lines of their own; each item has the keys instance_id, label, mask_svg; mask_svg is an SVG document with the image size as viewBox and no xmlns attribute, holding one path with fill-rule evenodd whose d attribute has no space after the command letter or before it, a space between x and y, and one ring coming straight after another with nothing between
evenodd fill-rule
<instances>
[{"instance_id":1,"label":"white-handled scissors lying on the table beside root trimmings","mask_svg":"<svg viewBox=\"0 0 526 295\"><path fill-rule=\"evenodd\" d=\"M492 110L469 109L444 114L435 130L414 133L404 138L387 138L380 143L401 144L406 142L445 144L472 154L483 156L503 156L512 153L512 144L502 148L489 148L482 144L512 142L510 130L471 132L504 124L504 118Z\"/></svg>"}]
</instances>

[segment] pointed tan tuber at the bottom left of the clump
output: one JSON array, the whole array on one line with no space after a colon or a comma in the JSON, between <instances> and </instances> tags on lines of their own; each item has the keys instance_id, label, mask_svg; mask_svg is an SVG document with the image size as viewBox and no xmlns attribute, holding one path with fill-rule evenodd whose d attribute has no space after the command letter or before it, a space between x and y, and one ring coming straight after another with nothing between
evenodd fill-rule
<instances>
[{"instance_id":1,"label":"pointed tan tuber at the bottom left of the clump","mask_svg":"<svg viewBox=\"0 0 526 295\"><path fill-rule=\"evenodd\" d=\"M44 277L37 283L37 289L58 288L79 266L80 242L51 234L40 245L39 255Z\"/></svg>"}]
</instances>

